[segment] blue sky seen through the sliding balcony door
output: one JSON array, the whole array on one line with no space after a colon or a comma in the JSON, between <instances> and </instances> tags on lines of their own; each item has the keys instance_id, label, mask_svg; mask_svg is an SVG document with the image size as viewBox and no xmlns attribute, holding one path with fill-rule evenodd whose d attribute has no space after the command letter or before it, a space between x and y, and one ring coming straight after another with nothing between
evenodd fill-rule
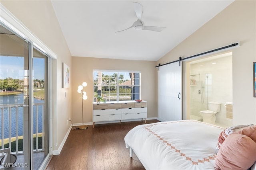
<instances>
[{"instance_id":1,"label":"blue sky seen through the sliding balcony door","mask_svg":"<svg viewBox=\"0 0 256 170\"><path fill-rule=\"evenodd\" d=\"M34 79L44 80L44 58L34 58ZM0 56L0 79L24 78L24 58Z\"/></svg>"}]
</instances>

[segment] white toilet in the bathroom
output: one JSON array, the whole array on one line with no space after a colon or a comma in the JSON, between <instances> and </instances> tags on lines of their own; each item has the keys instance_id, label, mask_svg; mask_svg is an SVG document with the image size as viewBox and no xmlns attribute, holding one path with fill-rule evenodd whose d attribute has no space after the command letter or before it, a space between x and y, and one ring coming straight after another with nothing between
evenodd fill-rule
<instances>
[{"instance_id":1,"label":"white toilet in the bathroom","mask_svg":"<svg viewBox=\"0 0 256 170\"><path fill-rule=\"evenodd\" d=\"M220 102L208 102L209 110L200 111L200 115L203 117L203 122L215 124L215 115L220 111L220 105Z\"/></svg>"}]
</instances>

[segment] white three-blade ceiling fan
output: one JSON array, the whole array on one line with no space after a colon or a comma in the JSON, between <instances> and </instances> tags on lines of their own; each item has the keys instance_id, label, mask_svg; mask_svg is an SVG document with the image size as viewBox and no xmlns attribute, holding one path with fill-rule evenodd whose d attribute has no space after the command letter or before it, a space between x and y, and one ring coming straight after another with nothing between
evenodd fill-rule
<instances>
[{"instance_id":1,"label":"white three-blade ceiling fan","mask_svg":"<svg viewBox=\"0 0 256 170\"><path fill-rule=\"evenodd\" d=\"M138 18L138 20L136 20L132 26L130 26L129 28L126 29L130 29L132 27L134 27L136 30L149 30L149 31L157 31L157 32L161 32L162 30L164 30L166 27L155 27L155 26L147 26L144 25L144 22L142 21L142 13L143 13L143 6L142 4L138 3L138 2L132 2L134 5L134 11L135 14ZM125 31L121 30L121 31ZM121 31L116 31L116 33L121 32Z\"/></svg>"}]
</instances>

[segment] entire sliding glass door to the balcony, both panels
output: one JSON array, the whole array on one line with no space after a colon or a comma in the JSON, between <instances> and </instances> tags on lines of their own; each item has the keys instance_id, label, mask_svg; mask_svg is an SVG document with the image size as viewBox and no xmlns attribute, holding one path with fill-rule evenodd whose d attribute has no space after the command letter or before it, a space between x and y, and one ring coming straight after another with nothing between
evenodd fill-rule
<instances>
[{"instance_id":1,"label":"entire sliding glass door to the balcony, both panels","mask_svg":"<svg viewBox=\"0 0 256 170\"><path fill-rule=\"evenodd\" d=\"M0 25L0 149L38 169L49 154L48 57Z\"/></svg>"}]
</instances>

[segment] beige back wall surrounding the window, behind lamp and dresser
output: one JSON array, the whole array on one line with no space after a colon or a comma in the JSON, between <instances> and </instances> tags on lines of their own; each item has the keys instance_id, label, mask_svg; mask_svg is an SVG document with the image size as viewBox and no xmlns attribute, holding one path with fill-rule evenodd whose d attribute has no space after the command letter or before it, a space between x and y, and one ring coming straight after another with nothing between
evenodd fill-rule
<instances>
[{"instance_id":1,"label":"beige back wall surrounding the window, behind lamp and dresser","mask_svg":"<svg viewBox=\"0 0 256 170\"><path fill-rule=\"evenodd\" d=\"M141 98L148 102L148 117L158 117L156 104L156 62L90 57L72 57L72 122L82 123L82 99L77 88L87 82L84 88L88 99L84 100L84 122L92 122L94 101L93 70L139 70L141 71Z\"/></svg>"}]
</instances>

